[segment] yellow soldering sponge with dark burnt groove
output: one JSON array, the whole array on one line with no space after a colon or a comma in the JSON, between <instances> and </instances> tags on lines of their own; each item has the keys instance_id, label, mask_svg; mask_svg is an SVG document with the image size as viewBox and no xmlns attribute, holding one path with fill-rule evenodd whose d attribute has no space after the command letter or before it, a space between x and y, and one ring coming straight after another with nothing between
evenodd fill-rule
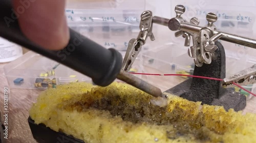
<instances>
[{"instance_id":1,"label":"yellow soldering sponge with dark burnt groove","mask_svg":"<svg viewBox=\"0 0 256 143\"><path fill-rule=\"evenodd\" d=\"M168 95L165 107L152 99L125 83L102 88L75 82L42 93L30 116L36 124L88 143L256 142L254 114L174 95Z\"/></svg>"}]
</instances>

